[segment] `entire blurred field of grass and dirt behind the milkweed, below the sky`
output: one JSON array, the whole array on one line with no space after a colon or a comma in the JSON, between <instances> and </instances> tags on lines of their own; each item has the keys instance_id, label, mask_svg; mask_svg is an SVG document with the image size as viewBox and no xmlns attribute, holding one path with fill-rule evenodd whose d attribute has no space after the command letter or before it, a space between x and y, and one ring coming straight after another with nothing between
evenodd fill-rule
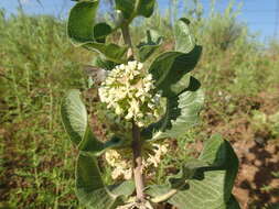
<instances>
[{"instance_id":1,"label":"entire blurred field of grass and dirt behind the milkweed, below the sky","mask_svg":"<svg viewBox=\"0 0 279 209\"><path fill-rule=\"evenodd\" d=\"M173 142L175 152L165 156L155 180L219 132L240 160L234 194L243 208L278 208L279 43L261 45L236 20L240 10L232 3L224 13L212 9L206 18L197 0L183 7L179 13L172 1L167 13L158 10L132 28L137 42L142 29L158 30L164 36L163 51L173 45L172 20L186 16L204 47L195 69L206 91L203 122ZM71 45L64 21L22 11L9 16L0 11L0 208L82 208L74 195L76 151L66 140L58 107L67 89L87 89L82 69L92 54ZM106 136L95 95L94 89L85 91L92 125ZM109 180L109 169L104 172Z\"/></svg>"}]
</instances>

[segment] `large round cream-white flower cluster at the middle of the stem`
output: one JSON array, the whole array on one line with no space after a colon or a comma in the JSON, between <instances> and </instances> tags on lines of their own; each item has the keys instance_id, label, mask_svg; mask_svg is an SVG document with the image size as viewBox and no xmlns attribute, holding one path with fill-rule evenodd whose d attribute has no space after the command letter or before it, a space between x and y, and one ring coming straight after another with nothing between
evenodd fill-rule
<instances>
[{"instance_id":1,"label":"large round cream-white flower cluster at the middle of the stem","mask_svg":"<svg viewBox=\"0 0 279 209\"><path fill-rule=\"evenodd\" d=\"M118 65L109 72L99 87L100 101L112 108L116 114L133 119L139 127L159 118L160 95L154 89L152 75L147 74L137 61Z\"/></svg>"}]
</instances>

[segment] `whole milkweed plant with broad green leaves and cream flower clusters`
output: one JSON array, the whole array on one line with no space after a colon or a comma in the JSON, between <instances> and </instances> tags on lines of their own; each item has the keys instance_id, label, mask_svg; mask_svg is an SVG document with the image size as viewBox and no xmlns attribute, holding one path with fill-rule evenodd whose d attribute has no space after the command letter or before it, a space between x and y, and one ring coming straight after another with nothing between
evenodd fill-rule
<instances>
[{"instance_id":1,"label":"whole milkweed plant with broad green leaves and cream flower clusters","mask_svg":"<svg viewBox=\"0 0 279 209\"><path fill-rule=\"evenodd\" d=\"M137 16L150 18L155 0L115 0L115 23L97 22L98 0L77 1L69 12L67 34L75 46L94 52L93 68L103 79L97 86L100 102L125 124L107 141L97 139L88 124L77 89L62 100L62 121L78 148L75 168L76 196L88 209L237 209L232 195L238 160L221 135L205 140L197 158L178 167L155 185L148 180L170 151L200 121L204 102L200 81L190 75L202 46L191 34L190 21L173 24L174 48L159 54L163 37L147 29L133 43L129 28ZM112 43L121 33L122 44ZM109 122L109 121L107 121ZM111 167L114 185L106 185L100 162ZM152 184L153 183L153 184Z\"/></svg>"}]
</instances>

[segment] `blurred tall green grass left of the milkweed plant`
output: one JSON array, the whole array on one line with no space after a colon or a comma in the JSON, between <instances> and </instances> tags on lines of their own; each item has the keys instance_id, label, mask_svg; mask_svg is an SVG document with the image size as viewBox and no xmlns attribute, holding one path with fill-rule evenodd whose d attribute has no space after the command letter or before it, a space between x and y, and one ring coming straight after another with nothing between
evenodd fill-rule
<instances>
[{"instance_id":1,"label":"blurred tall green grass left of the milkweed plant","mask_svg":"<svg viewBox=\"0 0 279 209\"><path fill-rule=\"evenodd\" d=\"M54 18L0 18L0 202L11 208L77 208L76 156L58 112L64 91L85 85L79 68L89 56L72 47L64 23Z\"/></svg>"}]
</instances>

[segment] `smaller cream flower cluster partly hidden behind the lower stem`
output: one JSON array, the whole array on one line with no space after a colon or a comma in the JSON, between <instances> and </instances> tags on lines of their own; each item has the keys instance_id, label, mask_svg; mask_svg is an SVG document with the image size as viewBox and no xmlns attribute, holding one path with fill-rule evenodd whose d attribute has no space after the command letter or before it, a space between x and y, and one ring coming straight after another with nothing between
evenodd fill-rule
<instances>
[{"instance_id":1,"label":"smaller cream flower cluster partly hidden behind the lower stem","mask_svg":"<svg viewBox=\"0 0 279 209\"><path fill-rule=\"evenodd\" d=\"M158 167L160 161L168 152L168 144L153 143L152 154L148 154L142 160L142 168L148 169L149 167ZM105 154L107 163L114 168L111 177L114 179L124 178L131 179L132 177L132 156L131 153L122 153L125 151L109 150ZM121 153L121 154L120 154Z\"/></svg>"}]
</instances>

